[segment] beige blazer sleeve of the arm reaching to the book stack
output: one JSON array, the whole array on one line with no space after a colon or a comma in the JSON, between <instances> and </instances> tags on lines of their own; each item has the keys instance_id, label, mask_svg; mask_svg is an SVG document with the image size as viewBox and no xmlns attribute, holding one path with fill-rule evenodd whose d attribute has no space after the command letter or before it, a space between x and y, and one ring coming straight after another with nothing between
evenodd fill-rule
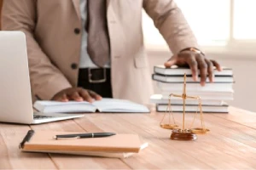
<instances>
[{"instance_id":1,"label":"beige blazer sleeve of the arm reaching to the book stack","mask_svg":"<svg viewBox=\"0 0 256 170\"><path fill-rule=\"evenodd\" d=\"M172 54L183 48L199 48L193 31L173 0L143 0L143 8L165 38Z\"/></svg>"}]
</instances>

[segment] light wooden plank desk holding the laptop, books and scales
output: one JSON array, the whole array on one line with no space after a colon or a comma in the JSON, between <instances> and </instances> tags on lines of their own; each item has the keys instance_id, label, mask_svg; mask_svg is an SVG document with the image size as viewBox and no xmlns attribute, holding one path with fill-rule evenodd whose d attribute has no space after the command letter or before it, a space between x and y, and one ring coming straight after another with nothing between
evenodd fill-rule
<instances>
[{"instance_id":1,"label":"light wooden plank desk holding the laptop, books and scales","mask_svg":"<svg viewBox=\"0 0 256 170\"><path fill-rule=\"evenodd\" d=\"M2 169L234 169L256 168L256 114L230 108L230 114L205 114L211 132L195 141L172 141L159 127L163 113L88 114L84 118L26 126L0 123ZM182 115L175 114L177 122ZM187 122L192 115L187 114ZM189 124L189 123L188 123ZM21 153L27 130L138 133L149 147L126 159Z\"/></svg>"}]
</instances>

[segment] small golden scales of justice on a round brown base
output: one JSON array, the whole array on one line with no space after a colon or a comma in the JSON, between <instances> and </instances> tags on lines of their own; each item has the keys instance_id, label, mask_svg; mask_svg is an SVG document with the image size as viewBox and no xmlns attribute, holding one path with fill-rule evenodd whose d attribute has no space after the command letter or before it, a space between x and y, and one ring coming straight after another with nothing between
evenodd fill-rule
<instances>
[{"instance_id":1,"label":"small golden scales of justice on a round brown base","mask_svg":"<svg viewBox=\"0 0 256 170\"><path fill-rule=\"evenodd\" d=\"M183 127L182 128L178 128L178 126L175 122L173 113L172 113L172 104L171 104L172 96L183 99ZM196 111L193 122L191 123L191 126L189 128L185 128L186 99L197 99L198 100L198 107L200 109L201 127L195 127L195 128L193 127L194 122L195 122L195 117L197 116L197 112L198 112L198 111ZM201 108L201 98L199 96L188 96L186 94L186 74L184 74L183 94L182 95L170 94L168 100L169 100L169 102L168 102L168 106L166 108L166 113L168 112L169 122L168 122L168 124L163 123L165 116L166 116L166 113L165 113L165 115L163 116L163 118L160 122L160 127L172 129L171 139L173 139L173 140L195 140L195 139L197 139L196 134L205 134L205 133L209 132L209 129L207 129L205 127L204 120L203 120L203 113L202 113L202 108ZM172 114L173 124L171 124L170 111Z\"/></svg>"}]
</instances>

